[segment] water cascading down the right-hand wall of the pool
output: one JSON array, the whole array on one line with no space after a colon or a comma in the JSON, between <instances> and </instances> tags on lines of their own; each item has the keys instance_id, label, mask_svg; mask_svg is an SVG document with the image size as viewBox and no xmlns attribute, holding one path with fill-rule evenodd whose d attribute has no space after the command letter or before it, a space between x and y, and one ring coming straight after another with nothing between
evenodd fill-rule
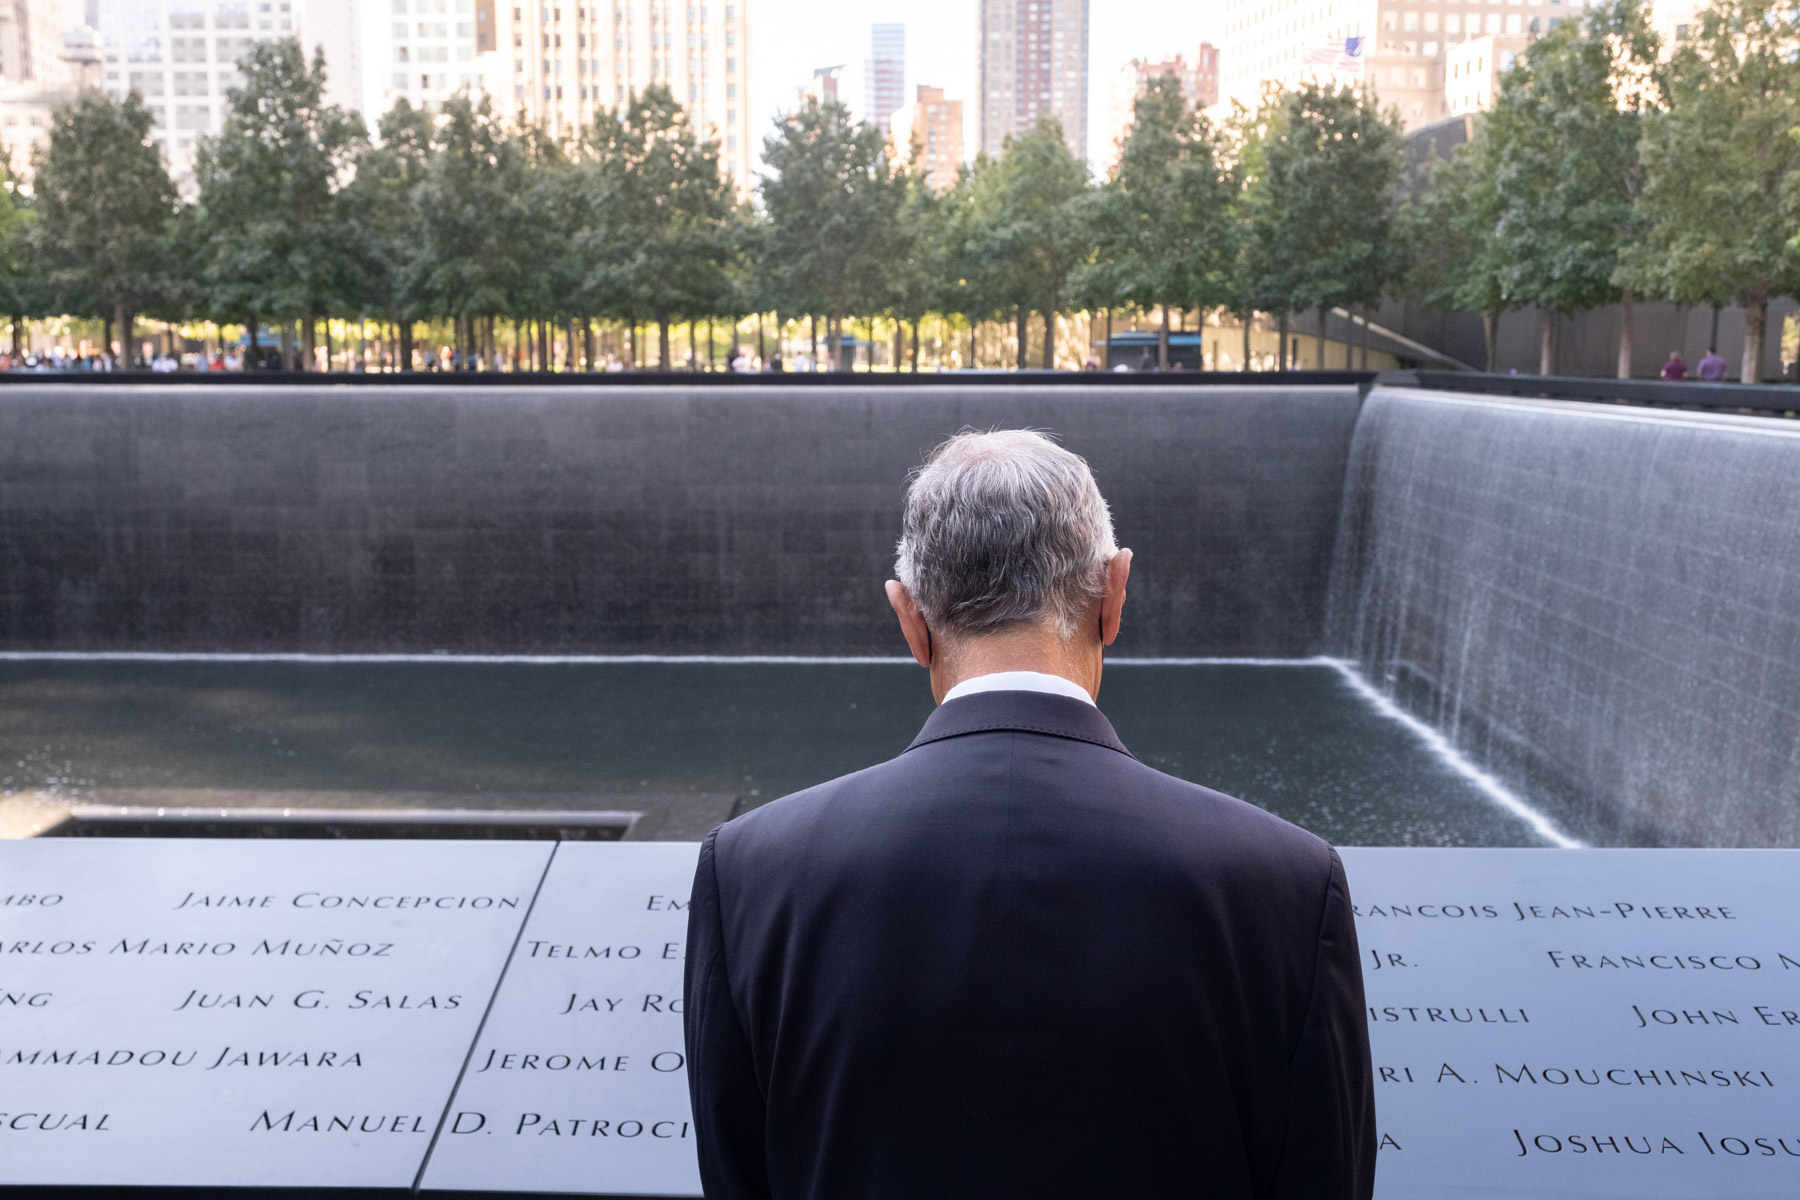
<instances>
[{"instance_id":1,"label":"water cascading down the right-hand wall of the pool","mask_svg":"<svg viewBox=\"0 0 1800 1200\"><path fill-rule=\"evenodd\" d=\"M1800 426L1377 389L1328 642L1631 844L1800 844Z\"/></svg>"}]
</instances>

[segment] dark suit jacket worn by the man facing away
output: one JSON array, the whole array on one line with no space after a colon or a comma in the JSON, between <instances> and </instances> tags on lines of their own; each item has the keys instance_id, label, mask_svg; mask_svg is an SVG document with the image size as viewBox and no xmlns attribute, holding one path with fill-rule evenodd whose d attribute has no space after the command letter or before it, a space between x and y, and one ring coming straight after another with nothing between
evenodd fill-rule
<instances>
[{"instance_id":1,"label":"dark suit jacket worn by the man facing away","mask_svg":"<svg viewBox=\"0 0 1800 1200\"><path fill-rule=\"evenodd\" d=\"M952 700L700 849L706 1195L1366 1198L1350 916L1330 846L1138 763L1098 709Z\"/></svg>"}]
</instances>

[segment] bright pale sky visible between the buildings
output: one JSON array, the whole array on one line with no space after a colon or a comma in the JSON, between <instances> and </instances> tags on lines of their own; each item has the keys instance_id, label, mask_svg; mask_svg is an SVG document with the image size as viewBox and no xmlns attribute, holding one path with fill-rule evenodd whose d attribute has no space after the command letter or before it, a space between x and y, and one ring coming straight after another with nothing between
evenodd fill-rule
<instances>
[{"instance_id":1,"label":"bright pale sky visible between the buildings","mask_svg":"<svg viewBox=\"0 0 1800 1200\"><path fill-rule=\"evenodd\" d=\"M963 101L963 146L977 139L977 0L747 0L751 4L751 131L758 146L776 113L794 104L815 67L859 63L869 54L869 25L907 27L907 97L914 85L945 88ZM1107 128L1107 92L1118 68L1134 58L1192 54L1217 41L1219 0L1089 0L1087 153L1094 173ZM860 108L862 97L846 97Z\"/></svg>"}]
</instances>

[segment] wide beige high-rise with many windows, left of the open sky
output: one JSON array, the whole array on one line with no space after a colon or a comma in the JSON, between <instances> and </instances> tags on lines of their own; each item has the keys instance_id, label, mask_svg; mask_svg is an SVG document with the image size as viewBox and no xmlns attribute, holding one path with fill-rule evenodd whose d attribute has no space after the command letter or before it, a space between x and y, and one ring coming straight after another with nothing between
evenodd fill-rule
<instances>
[{"instance_id":1,"label":"wide beige high-rise with many windows, left of the open sky","mask_svg":"<svg viewBox=\"0 0 1800 1200\"><path fill-rule=\"evenodd\" d=\"M499 54L511 67L509 86L493 86L499 104L572 139L598 112L662 85L718 140L725 175L751 189L761 128L749 121L749 0L491 2L502 5Z\"/></svg>"}]
</instances>

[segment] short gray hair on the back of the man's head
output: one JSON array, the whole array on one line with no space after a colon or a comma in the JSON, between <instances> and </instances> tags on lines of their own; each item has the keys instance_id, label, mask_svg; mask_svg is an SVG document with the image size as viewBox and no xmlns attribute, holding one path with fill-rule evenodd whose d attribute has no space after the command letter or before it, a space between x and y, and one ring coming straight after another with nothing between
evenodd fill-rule
<instances>
[{"instance_id":1,"label":"short gray hair on the back of the man's head","mask_svg":"<svg viewBox=\"0 0 1800 1200\"><path fill-rule=\"evenodd\" d=\"M1085 461L1031 430L963 430L913 473L895 574L943 633L1048 617L1071 637L1114 552Z\"/></svg>"}]
</instances>

